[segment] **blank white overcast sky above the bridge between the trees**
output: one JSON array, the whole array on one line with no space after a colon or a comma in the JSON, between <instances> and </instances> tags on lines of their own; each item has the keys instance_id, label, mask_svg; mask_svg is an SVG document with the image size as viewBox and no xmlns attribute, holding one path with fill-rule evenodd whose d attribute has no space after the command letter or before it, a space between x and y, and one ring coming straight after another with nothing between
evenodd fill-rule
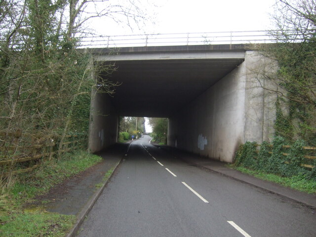
<instances>
[{"instance_id":1,"label":"blank white overcast sky above the bridge between the trees","mask_svg":"<svg viewBox=\"0 0 316 237\"><path fill-rule=\"evenodd\" d=\"M133 31L111 20L93 24L101 35L253 31L273 28L276 0L140 0L153 17ZM150 2L151 1L151 2ZM111 1L109 1L111 2ZM154 6L152 2L159 6Z\"/></svg>"}]
</instances>

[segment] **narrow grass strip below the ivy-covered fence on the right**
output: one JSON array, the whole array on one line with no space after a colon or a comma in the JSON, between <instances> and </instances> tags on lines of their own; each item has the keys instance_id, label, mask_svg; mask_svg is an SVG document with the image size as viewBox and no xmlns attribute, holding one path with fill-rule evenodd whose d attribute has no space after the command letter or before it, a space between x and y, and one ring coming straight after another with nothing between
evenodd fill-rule
<instances>
[{"instance_id":1,"label":"narrow grass strip below the ivy-covered fence on the right","mask_svg":"<svg viewBox=\"0 0 316 237\"><path fill-rule=\"evenodd\" d=\"M232 165L230 165L229 167L237 169L242 173L252 175L259 179L271 181L282 186L290 187L292 189L306 192L309 194L316 194L316 182L314 180L306 179L304 176L281 177L276 174L269 174L244 167L234 167Z\"/></svg>"}]
</instances>

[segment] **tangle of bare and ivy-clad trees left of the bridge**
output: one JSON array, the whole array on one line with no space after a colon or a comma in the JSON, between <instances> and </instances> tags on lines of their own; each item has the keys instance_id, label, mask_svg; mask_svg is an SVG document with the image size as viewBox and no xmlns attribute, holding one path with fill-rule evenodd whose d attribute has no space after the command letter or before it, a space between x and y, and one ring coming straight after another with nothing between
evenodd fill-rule
<instances>
[{"instance_id":1,"label":"tangle of bare and ivy-clad trees left of the bridge","mask_svg":"<svg viewBox=\"0 0 316 237\"><path fill-rule=\"evenodd\" d=\"M126 2L0 1L1 159L28 156L24 147L50 137L61 149L68 132L87 134L91 89L111 94L117 84L93 76L104 65L92 63L92 55L76 47L93 18L119 21L123 16L128 25L143 19L137 1ZM111 73L113 68L102 71Z\"/></svg>"}]
</instances>

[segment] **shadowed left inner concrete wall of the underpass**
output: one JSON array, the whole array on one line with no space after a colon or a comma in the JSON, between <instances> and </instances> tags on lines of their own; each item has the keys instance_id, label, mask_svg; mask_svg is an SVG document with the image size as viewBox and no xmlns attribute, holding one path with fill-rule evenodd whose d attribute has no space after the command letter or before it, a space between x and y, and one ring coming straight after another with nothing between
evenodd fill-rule
<instances>
[{"instance_id":1,"label":"shadowed left inner concrete wall of the underpass","mask_svg":"<svg viewBox=\"0 0 316 237\"><path fill-rule=\"evenodd\" d=\"M118 114L107 94L92 91L89 149L101 151L118 140Z\"/></svg>"}]
</instances>

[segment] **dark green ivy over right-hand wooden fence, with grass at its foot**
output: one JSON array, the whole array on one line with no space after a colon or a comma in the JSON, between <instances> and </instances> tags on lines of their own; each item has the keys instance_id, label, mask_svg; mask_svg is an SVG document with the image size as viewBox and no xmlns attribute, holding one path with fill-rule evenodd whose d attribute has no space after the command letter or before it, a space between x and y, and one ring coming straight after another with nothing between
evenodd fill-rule
<instances>
[{"instance_id":1,"label":"dark green ivy over right-hand wooden fence, with grass at its foot","mask_svg":"<svg viewBox=\"0 0 316 237\"><path fill-rule=\"evenodd\" d=\"M263 142L258 153L256 143L246 142L239 146L232 167L295 189L315 193L316 160L314 160L312 170L301 166L304 163L303 147L306 142L301 139L295 141L289 148L287 156L284 155L288 149L284 146L284 142L284 138L276 136L272 144ZM309 187L304 187L304 185Z\"/></svg>"}]
</instances>

